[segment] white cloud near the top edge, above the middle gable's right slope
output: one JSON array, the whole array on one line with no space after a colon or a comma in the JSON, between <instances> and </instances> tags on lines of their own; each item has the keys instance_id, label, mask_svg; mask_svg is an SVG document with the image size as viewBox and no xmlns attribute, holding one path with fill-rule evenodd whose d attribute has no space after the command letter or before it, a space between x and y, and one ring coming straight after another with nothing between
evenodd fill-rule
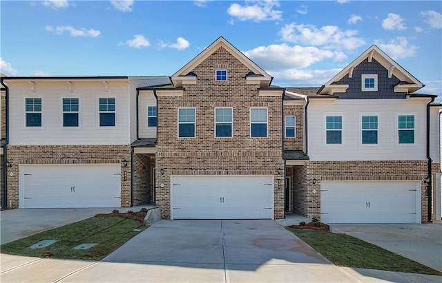
<instances>
[{"instance_id":1,"label":"white cloud near the top edge, above the middle gable's right slope","mask_svg":"<svg viewBox=\"0 0 442 283\"><path fill-rule=\"evenodd\" d=\"M256 1L254 5L241 6L233 3L227 9L232 17L240 21L278 21L282 19L282 11L274 10L279 7L278 1Z\"/></svg>"}]
</instances>

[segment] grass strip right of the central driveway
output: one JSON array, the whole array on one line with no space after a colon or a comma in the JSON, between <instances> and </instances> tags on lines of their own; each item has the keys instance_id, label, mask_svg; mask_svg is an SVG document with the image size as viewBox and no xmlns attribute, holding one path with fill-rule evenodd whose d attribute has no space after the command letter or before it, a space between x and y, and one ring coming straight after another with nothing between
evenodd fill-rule
<instances>
[{"instance_id":1,"label":"grass strip right of the central driveway","mask_svg":"<svg viewBox=\"0 0 442 283\"><path fill-rule=\"evenodd\" d=\"M442 275L441 272L345 234L288 228L338 266Z\"/></svg>"}]
</instances>

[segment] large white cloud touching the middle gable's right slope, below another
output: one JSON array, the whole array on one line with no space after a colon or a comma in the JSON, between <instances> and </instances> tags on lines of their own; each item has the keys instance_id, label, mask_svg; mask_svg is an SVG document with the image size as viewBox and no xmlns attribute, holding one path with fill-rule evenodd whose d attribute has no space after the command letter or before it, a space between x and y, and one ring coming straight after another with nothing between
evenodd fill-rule
<instances>
[{"instance_id":1,"label":"large white cloud touching the middle gable's right slope, below another","mask_svg":"<svg viewBox=\"0 0 442 283\"><path fill-rule=\"evenodd\" d=\"M346 58L342 52L320 50L313 46L289 46L286 43L260 46L246 51L244 54L265 70L273 71L309 67L316 62L323 61L323 59L341 60Z\"/></svg>"}]
</instances>

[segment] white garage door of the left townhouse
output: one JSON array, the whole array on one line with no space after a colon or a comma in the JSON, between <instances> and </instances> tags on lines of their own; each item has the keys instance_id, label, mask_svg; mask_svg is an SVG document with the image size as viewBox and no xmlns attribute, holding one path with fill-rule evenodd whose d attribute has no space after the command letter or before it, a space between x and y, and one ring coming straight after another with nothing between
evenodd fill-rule
<instances>
[{"instance_id":1,"label":"white garage door of the left townhouse","mask_svg":"<svg viewBox=\"0 0 442 283\"><path fill-rule=\"evenodd\" d=\"M21 165L21 208L120 207L120 165Z\"/></svg>"}]
</instances>

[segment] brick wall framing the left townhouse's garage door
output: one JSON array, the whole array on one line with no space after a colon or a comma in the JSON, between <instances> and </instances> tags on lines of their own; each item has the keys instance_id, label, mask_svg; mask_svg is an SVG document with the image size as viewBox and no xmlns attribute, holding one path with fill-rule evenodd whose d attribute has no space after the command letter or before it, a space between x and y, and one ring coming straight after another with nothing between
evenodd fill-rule
<instances>
[{"instance_id":1,"label":"brick wall framing the left townhouse's garage door","mask_svg":"<svg viewBox=\"0 0 442 283\"><path fill-rule=\"evenodd\" d=\"M19 165L121 164L121 206L131 205L131 147L128 145L8 146L8 207L19 207ZM126 171L126 180L124 180ZM12 175L12 176L11 176Z\"/></svg>"}]
</instances>

